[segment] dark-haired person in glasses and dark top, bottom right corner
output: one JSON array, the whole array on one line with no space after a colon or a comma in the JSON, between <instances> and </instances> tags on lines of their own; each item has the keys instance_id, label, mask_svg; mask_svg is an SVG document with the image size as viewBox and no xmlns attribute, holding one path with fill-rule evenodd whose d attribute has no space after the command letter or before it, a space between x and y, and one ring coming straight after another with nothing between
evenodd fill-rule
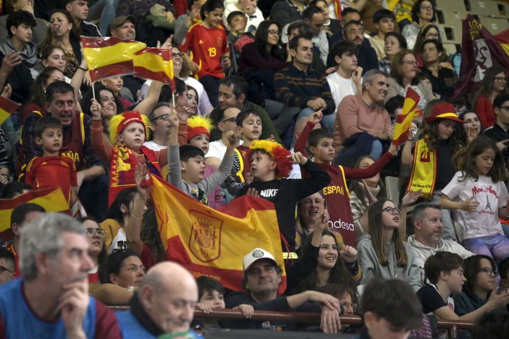
<instances>
[{"instance_id":1,"label":"dark-haired person in glasses and dark top, bottom right corner","mask_svg":"<svg viewBox=\"0 0 509 339\"><path fill-rule=\"evenodd\" d=\"M454 312L460 317L488 303L490 295L497 293L500 280L493 258L482 254L463 260L463 275L467 281L461 293L453 295ZM493 311L505 312L505 307Z\"/></svg>"}]
</instances>

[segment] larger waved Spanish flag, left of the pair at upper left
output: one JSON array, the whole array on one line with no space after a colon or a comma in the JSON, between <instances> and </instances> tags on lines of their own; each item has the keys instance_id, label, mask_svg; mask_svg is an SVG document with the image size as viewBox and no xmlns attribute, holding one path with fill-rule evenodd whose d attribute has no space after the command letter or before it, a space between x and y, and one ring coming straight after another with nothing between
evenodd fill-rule
<instances>
[{"instance_id":1,"label":"larger waved Spanish flag, left of the pair at upper left","mask_svg":"<svg viewBox=\"0 0 509 339\"><path fill-rule=\"evenodd\" d=\"M81 37L81 43L93 82L107 77L132 74L134 54L147 47L143 42L118 37Z\"/></svg>"}]
</instances>

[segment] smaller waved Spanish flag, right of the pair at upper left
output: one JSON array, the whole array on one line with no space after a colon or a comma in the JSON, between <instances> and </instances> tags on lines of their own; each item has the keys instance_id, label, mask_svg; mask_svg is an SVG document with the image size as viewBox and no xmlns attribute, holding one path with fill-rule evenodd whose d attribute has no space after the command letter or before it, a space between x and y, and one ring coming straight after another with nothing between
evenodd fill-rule
<instances>
[{"instance_id":1,"label":"smaller waved Spanish flag, right of the pair at upper left","mask_svg":"<svg viewBox=\"0 0 509 339\"><path fill-rule=\"evenodd\" d=\"M171 51L169 49L147 47L137 51L133 58L134 76L171 83L173 72L170 69Z\"/></svg>"}]
</instances>

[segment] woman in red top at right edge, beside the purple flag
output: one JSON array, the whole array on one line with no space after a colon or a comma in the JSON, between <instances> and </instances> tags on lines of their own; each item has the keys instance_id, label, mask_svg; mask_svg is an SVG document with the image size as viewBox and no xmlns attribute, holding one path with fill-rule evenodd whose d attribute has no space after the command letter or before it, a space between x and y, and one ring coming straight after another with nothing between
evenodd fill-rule
<instances>
[{"instance_id":1,"label":"woman in red top at right edge, beside the purple flag","mask_svg":"<svg viewBox=\"0 0 509 339\"><path fill-rule=\"evenodd\" d=\"M479 116L483 131L495 124L493 100L497 95L508 92L507 79L502 67L492 66L486 70L479 94L474 101L474 112Z\"/></svg>"}]
</instances>

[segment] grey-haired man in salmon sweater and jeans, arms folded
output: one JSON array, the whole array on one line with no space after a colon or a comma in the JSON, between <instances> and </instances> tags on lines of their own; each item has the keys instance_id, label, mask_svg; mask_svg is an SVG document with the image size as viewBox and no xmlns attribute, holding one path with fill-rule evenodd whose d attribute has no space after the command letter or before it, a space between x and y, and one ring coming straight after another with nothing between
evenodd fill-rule
<instances>
[{"instance_id":1,"label":"grey-haired man in salmon sweater and jeans, arms folded","mask_svg":"<svg viewBox=\"0 0 509 339\"><path fill-rule=\"evenodd\" d=\"M334 142L338 153L336 163L354 167L357 160L369 155L377 161L389 148L394 126L384 100L387 95L387 77L379 69L372 69L362 77L362 94L347 95L337 108ZM341 112L341 114L340 114Z\"/></svg>"}]
</instances>

